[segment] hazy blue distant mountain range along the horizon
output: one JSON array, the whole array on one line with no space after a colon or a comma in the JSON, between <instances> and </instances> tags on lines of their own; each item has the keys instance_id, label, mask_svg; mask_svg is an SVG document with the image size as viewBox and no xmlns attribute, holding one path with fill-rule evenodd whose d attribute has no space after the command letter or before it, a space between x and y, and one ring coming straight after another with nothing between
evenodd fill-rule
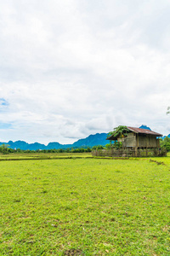
<instances>
[{"instance_id":1,"label":"hazy blue distant mountain range along the horizon","mask_svg":"<svg viewBox=\"0 0 170 256\"><path fill-rule=\"evenodd\" d=\"M141 125L139 128L150 130L150 127L147 127L146 125ZM8 143L1 143L9 145L9 148L20 148L22 150L37 150L37 149L59 149L59 148L87 148L87 147L94 147L98 145L105 146L105 144L109 143L109 141L106 140L107 133L96 133L94 135L89 135L86 138L78 140L76 143L72 144L60 144L60 143L48 143L48 145L44 145L41 143L26 143L24 141L17 141L12 142L9 141ZM165 136L164 136L165 137ZM162 138L164 138L162 137ZM167 136L170 137L170 134Z\"/></svg>"}]
</instances>

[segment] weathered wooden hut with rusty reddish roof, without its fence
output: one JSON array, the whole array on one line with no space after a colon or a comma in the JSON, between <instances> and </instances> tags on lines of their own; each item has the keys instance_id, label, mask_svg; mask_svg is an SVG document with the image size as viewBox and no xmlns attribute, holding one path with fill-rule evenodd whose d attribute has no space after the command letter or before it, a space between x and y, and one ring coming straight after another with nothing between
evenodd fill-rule
<instances>
[{"instance_id":1,"label":"weathered wooden hut with rusty reddish roof, without its fence","mask_svg":"<svg viewBox=\"0 0 170 256\"><path fill-rule=\"evenodd\" d=\"M158 137L162 137L156 131L127 126L126 136L112 134L107 140L122 142L123 148L160 148Z\"/></svg>"}]
</instances>

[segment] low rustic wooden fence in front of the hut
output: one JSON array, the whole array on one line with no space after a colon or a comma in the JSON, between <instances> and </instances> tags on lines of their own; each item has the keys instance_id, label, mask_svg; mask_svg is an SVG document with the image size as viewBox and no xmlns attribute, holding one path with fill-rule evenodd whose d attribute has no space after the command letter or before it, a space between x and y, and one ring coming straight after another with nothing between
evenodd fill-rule
<instances>
[{"instance_id":1,"label":"low rustic wooden fence in front of the hut","mask_svg":"<svg viewBox=\"0 0 170 256\"><path fill-rule=\"evenodd\" d=\"M162 148L111 148L95 149L92 151L93 156L110 156L110 157L150 157L150 156L167 156L167 150Z\"/></svg>"}]
</instances>

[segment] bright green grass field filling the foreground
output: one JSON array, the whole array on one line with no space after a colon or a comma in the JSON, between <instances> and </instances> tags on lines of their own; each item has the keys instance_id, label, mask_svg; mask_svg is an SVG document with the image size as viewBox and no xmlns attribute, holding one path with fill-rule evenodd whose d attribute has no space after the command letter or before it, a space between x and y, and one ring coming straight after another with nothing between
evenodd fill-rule
<instances>
[{"instance_id":1,"label":"bright green grass field filling the foreground","mask_svg":"<svg viewBox=\"0 0 170 256\"><path fill-rule=\"evenodd\" d=\"M0 255L170 255L169 177L169 156L0 161Z\"/></svg>"}]
</instances>

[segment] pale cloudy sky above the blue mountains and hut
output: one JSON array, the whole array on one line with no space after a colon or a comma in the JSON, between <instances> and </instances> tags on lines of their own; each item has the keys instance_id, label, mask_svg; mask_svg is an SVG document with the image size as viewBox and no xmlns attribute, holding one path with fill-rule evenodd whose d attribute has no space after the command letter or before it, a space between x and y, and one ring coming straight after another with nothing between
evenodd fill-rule
<instances>
[{"instance_id":1,"label":"pale cloudy sky above the blue mountains and hut","mask_svg":"<svg viewBox=\"0 0 170 256\"><path fill-rule=\"evenodd\" d=\"M170 133L170 1L0 0L0 142Z\"/></svg>"}]
</instances>

